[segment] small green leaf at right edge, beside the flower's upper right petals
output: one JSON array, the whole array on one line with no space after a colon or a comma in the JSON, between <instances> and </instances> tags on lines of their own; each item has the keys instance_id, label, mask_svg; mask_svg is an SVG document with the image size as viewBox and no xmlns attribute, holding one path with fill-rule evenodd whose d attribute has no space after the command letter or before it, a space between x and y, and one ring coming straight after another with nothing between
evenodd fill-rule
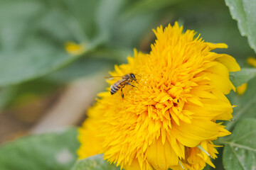
<instances>
[{"instance_id":1,"label":"small green leaf at right edge, beside the flower's upper right petals","mask_svg":"<svg viewBox=\"0 0 256 170\"><path fill-rule=\"evenodd\" d=\"M252 68L243 68L240 72L231 72L230 80L235 87L241 86L242 84L247 83L250 79L256 77L256 69Z\"/></svg>"}]
</instances>

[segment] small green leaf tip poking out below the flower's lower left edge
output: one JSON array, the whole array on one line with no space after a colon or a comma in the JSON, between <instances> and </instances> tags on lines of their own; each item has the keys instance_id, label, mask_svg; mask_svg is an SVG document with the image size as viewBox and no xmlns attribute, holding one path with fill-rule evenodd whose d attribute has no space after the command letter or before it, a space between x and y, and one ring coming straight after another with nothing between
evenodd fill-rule
<instances>
[{"instance_id":1,"label":"small green leaf tip poking out below the flower's lower left edge","mask_svg":"<svg viewBox=\"0 0 256 170\"><path fill-rule=\"evenodd\" d=\"M103 159L103 154L97 154L75 163L71 170L119 170L118 166L110 164Z\"/></svg>"}]
</instances>

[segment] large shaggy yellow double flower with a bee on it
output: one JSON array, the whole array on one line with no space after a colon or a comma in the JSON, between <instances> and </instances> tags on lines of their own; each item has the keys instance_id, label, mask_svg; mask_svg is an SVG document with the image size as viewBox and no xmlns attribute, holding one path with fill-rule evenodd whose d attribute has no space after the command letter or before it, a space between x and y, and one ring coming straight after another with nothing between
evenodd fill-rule
<instances>
[{"instance_id":1,"label":"large shaggy yellow double flower with a bee on it","mask_svg":"<svg viewBox=\"0 0 256 170\"><path fill-rule=\"evenodd\" d=\"M136 87L127 84L124 98L120 90L111 95L110 88L99 94L80 128L80 159L104 153L126 170L214 166L210 157L215 159L217 151L211 141L230 135L215 120L232 118L225 94L235 90L229 72L240 67L230 55L210 52L227 45L182 30L178 23L160 26L149 55L134 50L128 64L110 72L113 77L133 73Z\"/></svg>"}]
</instances>

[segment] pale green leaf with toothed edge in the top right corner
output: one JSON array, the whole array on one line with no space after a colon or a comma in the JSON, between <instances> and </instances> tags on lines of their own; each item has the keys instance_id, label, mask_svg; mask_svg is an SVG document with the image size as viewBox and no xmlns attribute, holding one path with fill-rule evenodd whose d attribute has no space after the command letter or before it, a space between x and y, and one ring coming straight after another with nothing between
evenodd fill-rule
<instances>
[{"instance_id":1,"label":"pale green leaf with toothed edge in the top right corner","mask_svg":"<svg viewBox=\"0 0 256 170\"><path fill-rule=\"evenodd\" d=\"M256 52L256 1L225 0L233 19L238 21L238 28L243 36L247 36L250 47Z\"/></svg>"}]
</instances>

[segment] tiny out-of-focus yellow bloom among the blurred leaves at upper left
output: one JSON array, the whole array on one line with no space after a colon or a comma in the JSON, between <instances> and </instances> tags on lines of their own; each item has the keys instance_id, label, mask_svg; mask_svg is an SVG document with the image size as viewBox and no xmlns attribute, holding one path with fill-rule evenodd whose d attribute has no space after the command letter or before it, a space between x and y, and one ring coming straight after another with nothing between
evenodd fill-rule
<instances>
[{"instance_id":1,"label":"tiny out-of-focus yellow bloom among the blurred leaves at upper left","mask_svg":"<svg viewBox=\"0 0 256 170\"><path fill-rule=\"evenodd\" d=\"M76 44L75 42L66 42L65 50L70 55L81 55L85 52L85 44Z\"/></svg>"}]
</instances>

